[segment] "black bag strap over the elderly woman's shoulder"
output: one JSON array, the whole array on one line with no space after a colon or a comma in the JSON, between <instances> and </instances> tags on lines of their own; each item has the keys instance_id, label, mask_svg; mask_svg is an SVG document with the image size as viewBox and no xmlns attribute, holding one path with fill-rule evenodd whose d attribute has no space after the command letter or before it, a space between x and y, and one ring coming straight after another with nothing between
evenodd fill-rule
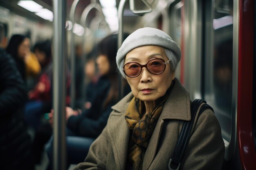
<instances>
[{"instance_id":1,"label":"black bag strap over the elderly woman's shoulder","mask_svg":"<svg viewBox=\"0 0 256 170\"><path fill-rule=\"evenodd\" d=\"M210 108L213 111L213 108L211 108L211 106L209 106L202 99L195 99L192 102L192 104L191 104L191 120L190 121L184 121L184 123L183 123L182 130L180 132L176 148L174 150L173 156L171 157L171 159L168 163L168 170L179 170L182 155L183 155L184 150L186 148L186 144L189 141L190 131L191 131L191 128L192 128L193 123L195 121L195 115L197 113L198 108L200 107L200 105L202 103L204 103L204 104L200 108L200 111L198 113L198 117L207 108Z\"/></svg>"}]
</instances>

